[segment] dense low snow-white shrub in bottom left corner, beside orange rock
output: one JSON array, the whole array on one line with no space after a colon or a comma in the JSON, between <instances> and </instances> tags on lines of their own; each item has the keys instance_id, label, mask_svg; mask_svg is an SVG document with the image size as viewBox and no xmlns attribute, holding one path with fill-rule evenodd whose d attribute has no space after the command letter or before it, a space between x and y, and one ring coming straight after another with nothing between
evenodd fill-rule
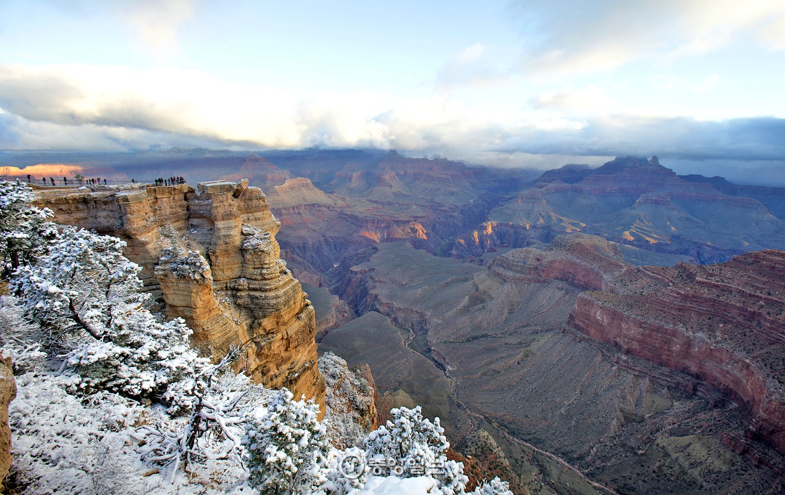
<instances>
[{"instance_id":1,"label":"dense low snow-white shrub in bottom left corner, beside orange rock","mask_svg":"<svg viewBox=\"0 0 785 495\"><path fill-rule=\"evenodd\" d=\"M14 463L9 480L24 493L151 493L162 480L144 476L126 445L141 417L136 403L101 393L86 402L68 393L68 377L16 377L9 406ZM162 492L159 492L162 493Z\"/></svg>"}]
</instances>

